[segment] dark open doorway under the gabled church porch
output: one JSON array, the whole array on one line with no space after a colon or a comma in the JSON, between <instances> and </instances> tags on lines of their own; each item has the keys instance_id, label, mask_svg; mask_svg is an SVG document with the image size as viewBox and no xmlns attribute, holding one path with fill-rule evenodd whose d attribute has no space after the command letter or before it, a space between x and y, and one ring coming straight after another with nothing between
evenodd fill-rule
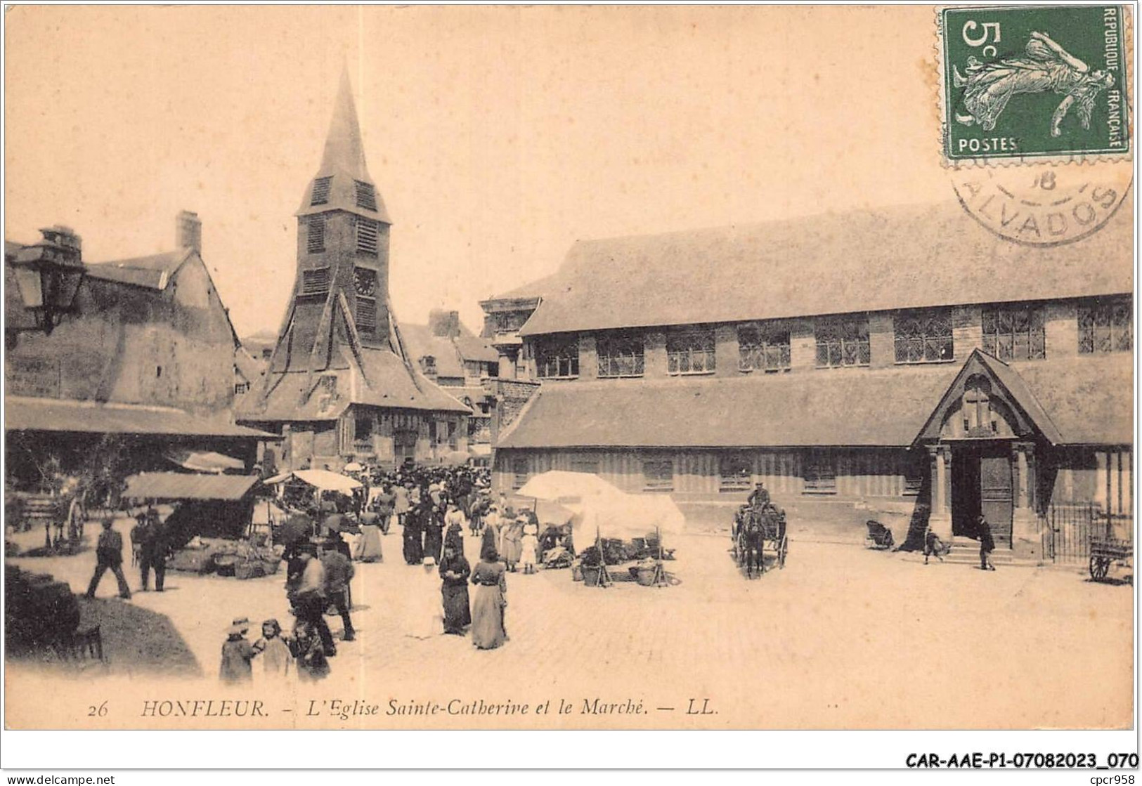
<instances>
[{"instance_id":1,"label":"dark open doorway under the gabled church porch","mask_svg":"<svg viewBox=\"0 0 1142 786\"><path fill-rule=\"evenodd\" d=\"M1015 508L1011 444L1000 440L955 445L951 449L951 534L975 537L983 513L997 549L1011 548Z\"/></svg>"}]
</instances>

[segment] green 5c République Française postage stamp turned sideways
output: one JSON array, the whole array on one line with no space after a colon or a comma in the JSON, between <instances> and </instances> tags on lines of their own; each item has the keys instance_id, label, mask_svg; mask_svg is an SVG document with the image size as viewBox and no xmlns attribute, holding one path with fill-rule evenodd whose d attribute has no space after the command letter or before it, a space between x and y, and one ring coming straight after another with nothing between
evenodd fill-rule
<instances>
[{"instance_id":1,"label":"green 5c R\u00e9publique Fran\u00e7aise postage stamp turned sideways","mask_svg":"<svg viewBox=\"0 0 1142 786\"><path fill-rule=\"evenodd\" d=\"M1121 6L943 8L949 161L1129 153Z\"/></svg>"}]
</instances>

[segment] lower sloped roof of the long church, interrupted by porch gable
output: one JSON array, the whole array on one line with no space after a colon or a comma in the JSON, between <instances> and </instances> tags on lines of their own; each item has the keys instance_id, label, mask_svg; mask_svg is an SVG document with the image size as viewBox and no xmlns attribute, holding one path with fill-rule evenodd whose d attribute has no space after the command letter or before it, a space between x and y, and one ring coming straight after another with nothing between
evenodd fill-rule
<instances>
[{"instance_id":1,"label":"lower sloped roof of the long church, interrupted by porch gable","mask_svg":"<svg viewBox=\"0 0 1142 786\"><path fill-rule=\"evenodd\" d=\"M545 383L497 447L902 447L959 368ZM1132 441L1128 357L1023 363L1008 381L1016 373L1062 443Z\"/></svg>"}]
</instances>

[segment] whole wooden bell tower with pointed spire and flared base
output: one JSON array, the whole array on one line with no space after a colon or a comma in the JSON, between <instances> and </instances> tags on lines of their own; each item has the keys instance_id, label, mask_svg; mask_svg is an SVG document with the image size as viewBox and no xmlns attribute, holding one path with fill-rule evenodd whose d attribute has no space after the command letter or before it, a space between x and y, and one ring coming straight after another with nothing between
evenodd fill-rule
<instances>
[{"instance_id":1,"label":"whole wooden bell tower with pointed spire and flared base","mask_svg":"<svg viewBox=\"0 0 1142 786\"><path fill-rule=\"evenodd\" d=\"M435 463L468 449L471 410L427 379L388 295L392 220L343 73L321 168L297 212L293 292L238 421L282 437L266 469Z\"/></svg>"}]
</instances>

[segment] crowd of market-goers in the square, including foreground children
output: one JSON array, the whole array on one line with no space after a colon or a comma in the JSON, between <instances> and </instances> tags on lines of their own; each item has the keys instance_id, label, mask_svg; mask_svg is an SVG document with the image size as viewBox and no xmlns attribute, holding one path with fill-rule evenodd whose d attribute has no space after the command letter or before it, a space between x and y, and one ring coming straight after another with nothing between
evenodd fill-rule
<instances>
[{"instance_id":1,"label":"crowd of market-goers in the square, including foreground children","mask_svg":"<svg viewBox=\"0 0 1142 786\"><path fill-rule=\"evenodd\" d=\"M324 517L320 532L286 551L286 593L295 618L284 632L276 619L263 624L250 642L249 621L234 619L223 643L220 676L226 682L254 679L260 661L267 679L295 674L299 680L327 676L337 642L327 616L340 616L341 641L353 641L351 581L354 562L384 561L383 538L400 528L402 558L416 566L404 607L405 634L471 635L478 649L507 640L505 610L508 573L536 572L541 553L534 512L516 513L505 495L492 499L486 469L402 467L354 473L361 489L346 513L308 511ZM352 524L344 526L348 519ZM395 533L393 533L395 534ZM478 538L478 559L465 556L465 536Z\"/></svg>"}]
</instances>

